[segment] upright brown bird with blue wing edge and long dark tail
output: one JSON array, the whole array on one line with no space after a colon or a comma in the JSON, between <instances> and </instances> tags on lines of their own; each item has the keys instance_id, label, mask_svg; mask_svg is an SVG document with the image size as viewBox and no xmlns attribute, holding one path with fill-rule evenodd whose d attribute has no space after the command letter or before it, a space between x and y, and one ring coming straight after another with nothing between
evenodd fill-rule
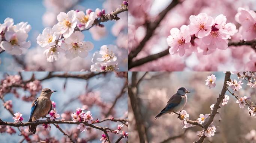
<instances>
[{"instance_id":1,"label":"upright brown bird with blue wing edge and long dark tail","mask_svg":"<svg viewBox=\"0 0 256 143\"><path fill-rule=\"evenodd\" d=\"M39 118L45 117L52 110L52 101L50 98L54 92L56 92L56 90L52 91L49 88L42 90L39 98L35 99L32 103L29 122L37 121ZM35 134L36 125L30 125L28 131Z\"/></svg>"}]
</instances>

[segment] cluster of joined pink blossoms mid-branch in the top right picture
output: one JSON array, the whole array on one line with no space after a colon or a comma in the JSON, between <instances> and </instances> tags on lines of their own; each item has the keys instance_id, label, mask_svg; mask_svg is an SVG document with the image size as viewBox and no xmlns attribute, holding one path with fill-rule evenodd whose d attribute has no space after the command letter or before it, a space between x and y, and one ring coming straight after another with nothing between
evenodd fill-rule
<instances>
[{"instance_id":1,"label":"cluster of joined pink blossoms mid-branch in the top right picture","mask_svg":"<svg viewBox=\"0 0 256 143\"><path fill-rule=\"evenodd\" d=\"M167 43L171 47L170 54L185 54L186 49L201 48L203 54L213 53L217 48L226 50L228 39L237 32L233 23L226 23L226 16L218 15L215 19L206 13L189 17L190 24L182 25L180 29L172 28Z\"/></svg>"}]
</instances>

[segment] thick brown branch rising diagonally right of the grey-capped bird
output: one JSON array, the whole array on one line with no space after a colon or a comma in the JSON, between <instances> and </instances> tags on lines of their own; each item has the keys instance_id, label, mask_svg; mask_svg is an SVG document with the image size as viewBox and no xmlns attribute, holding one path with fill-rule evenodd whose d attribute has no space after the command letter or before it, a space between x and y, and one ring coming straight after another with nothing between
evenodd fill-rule
<instances>
[{"instance_id":1,"label":"thick brown branch rising diagonally right of the grey-capped bird","mask_svg":"<svg viewBox=\"0 0 256 143\"><path fill-rule=\"evenodd\" d=\"M223 101L224 95L227 91L227 81L229 81L230 79L230 75L231 73L229 71L226 72L225 74L225 79L224 79L224 83L223 83L223 87L221 90L221 93L219 95L219 97L217 98L216 103L214 104L213 110L211 111L210 114L210 118L208 118L208 120L203 124L204 125L204 131L207 130L207 128L209 127L209 125L213 122L213 119L215 117L215 115L218 113L217 110L220 108L220 103ZM196 141L195 143L202 143L204 142L205 139L205 135L203 134L198 141Z\"/></svg>"}]
</instances>

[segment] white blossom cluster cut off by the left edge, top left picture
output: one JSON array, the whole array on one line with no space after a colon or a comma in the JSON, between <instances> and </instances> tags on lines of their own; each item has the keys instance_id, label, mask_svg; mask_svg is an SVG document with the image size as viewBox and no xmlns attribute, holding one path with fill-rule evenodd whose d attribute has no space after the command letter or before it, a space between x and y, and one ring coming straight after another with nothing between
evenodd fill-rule
<instances>
[{"instance_id":1,"label":"white blossom cluster cut off by the left edge, top left picture","mask_svg":"<svg viewBox=\"0 0 256 143\"><path fill-rule=\"evenodd\" d=\"M21 55L30 47L27 41L28 32L31 26L27 22L20 22L14 25L12 18L6 18L0 23L0 47L9 54Z\"/></svg>"}]
</instances>

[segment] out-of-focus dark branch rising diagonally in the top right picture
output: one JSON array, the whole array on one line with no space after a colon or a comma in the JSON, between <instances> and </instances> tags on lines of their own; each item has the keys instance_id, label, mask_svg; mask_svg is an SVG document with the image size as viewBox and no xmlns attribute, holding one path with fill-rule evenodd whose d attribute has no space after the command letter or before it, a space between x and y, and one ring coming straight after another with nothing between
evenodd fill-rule
<instances>
[{"instance_id":1,"label":"out-of-focus dark branch rising diagonally in the top right picture","mask_svg":"<svg viewBox=\"0 0 256 143\"><path fill-rule=\"evenodd\" d=\"M147 24L147 32L143 40L140 42L140 44L132 50L128 55L128 63L132 61L134 57L140 53L140 51L143 49L146 42L151 38L153 33L155 32L155 29L159 26L161 21L164 19L165 15L173 9L177 4L179 4L179 0L173 0L162 12L159 13L158 18L155 20L155 22L148 23Z\"/></svg>"}]
</instances>

